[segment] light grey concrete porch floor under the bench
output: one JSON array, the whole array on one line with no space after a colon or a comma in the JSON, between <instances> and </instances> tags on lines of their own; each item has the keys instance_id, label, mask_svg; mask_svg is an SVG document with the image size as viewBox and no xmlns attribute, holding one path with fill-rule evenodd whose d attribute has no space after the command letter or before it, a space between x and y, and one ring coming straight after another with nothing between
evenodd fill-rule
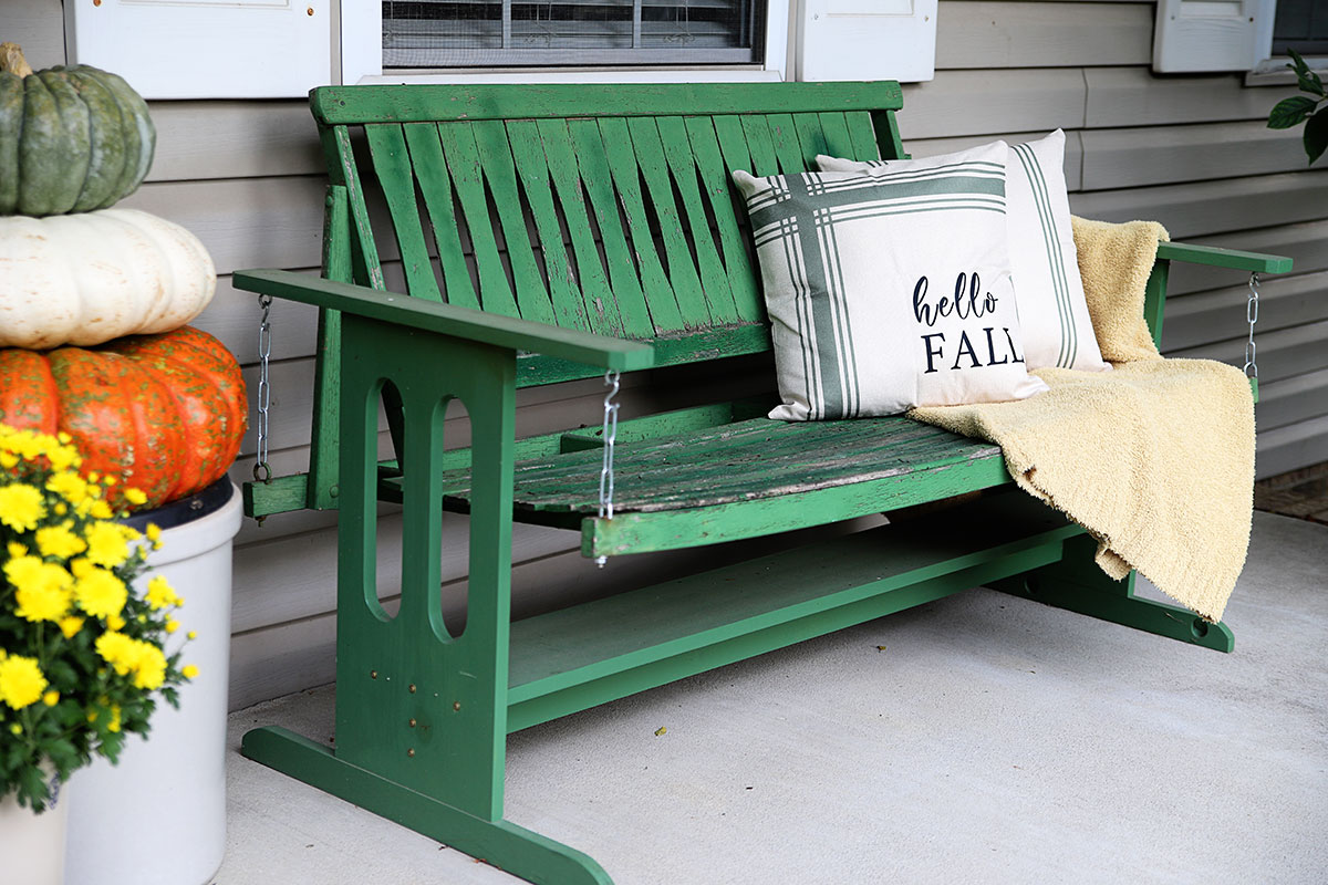
<instances>
[{"instance_id":1,"label":"light grey concrete porch floor under the bench","mask_svg":"<svg viewBox=\"0 0 1328 885\"><path fill-rule=\"evenodd\" d=\"M1325 882L1328 525L1255 513L1226 621L1230 655L969 590L511 735L507 819L618 885ZM331 720L231 716L216 885L517 881L238 752Z\"/></svg>"}]
</instances>

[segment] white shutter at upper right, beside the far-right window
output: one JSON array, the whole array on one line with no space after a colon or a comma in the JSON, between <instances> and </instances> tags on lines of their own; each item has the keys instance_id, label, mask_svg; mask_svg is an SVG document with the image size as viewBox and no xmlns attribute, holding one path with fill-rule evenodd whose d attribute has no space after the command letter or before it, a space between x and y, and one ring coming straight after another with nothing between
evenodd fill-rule
<instances>
[{"instance_id":1,"label":"white shutter at upper right, beside the far-right window","mask_svg":"<svg viewBox=\"0 0 1328 885\"><path fill-rule=\"evenodd\" d=\"M1276 0L1158 0L1153 69L1252 70L1268 57Z\"/></svg>"}]
</instances>

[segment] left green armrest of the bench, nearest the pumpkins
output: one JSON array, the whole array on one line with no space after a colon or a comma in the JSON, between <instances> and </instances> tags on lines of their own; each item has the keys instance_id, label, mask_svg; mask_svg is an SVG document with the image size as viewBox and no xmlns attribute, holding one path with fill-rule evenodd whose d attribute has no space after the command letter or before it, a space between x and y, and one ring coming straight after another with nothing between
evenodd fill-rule
<instances>
[{"instance_id":1,"label":"left green armrest of the bench, nearest the pumpkins","mask_svg":"<svg viewBox=\"0 0 1328 885\"><path fill-rule=\"evenodd\" d=\"M629 372L655 364L655 349L640 341L627 341L578 329L562 329L543 322L503 317L406 295L380 292L364 285L336 283L291 271L236 271L234 284L246 292L271 295L291 301L315 304L343 313L396 322L413 329L437 332L511 350L544 353L603 369Z\"/></svg>"}]
</instances>

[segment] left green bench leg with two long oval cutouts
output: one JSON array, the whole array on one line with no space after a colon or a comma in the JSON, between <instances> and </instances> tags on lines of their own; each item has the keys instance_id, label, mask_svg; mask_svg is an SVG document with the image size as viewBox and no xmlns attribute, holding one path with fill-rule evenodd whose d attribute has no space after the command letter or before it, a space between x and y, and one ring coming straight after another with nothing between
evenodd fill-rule
<instances>
[{"instance_id":1,"label":"left green bench leg with two long oval cutouts","mask_svg":"<svg viewBox=\"0 0 1328 885\"><path fill-rule=\"evenodd\" d=\"M515 354L343 317L336 746L280 728L242 752L493 866L543 885L611 885L586 854L503 820L511 608ZM377 402L400 394L401 602L377 588ZM470 415L466 624L442 620L444 417Z\"/></svg>"}]
</instances>

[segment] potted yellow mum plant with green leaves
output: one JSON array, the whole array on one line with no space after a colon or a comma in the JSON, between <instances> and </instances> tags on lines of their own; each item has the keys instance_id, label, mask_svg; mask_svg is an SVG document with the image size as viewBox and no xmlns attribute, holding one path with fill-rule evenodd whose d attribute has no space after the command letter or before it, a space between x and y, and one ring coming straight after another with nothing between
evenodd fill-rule
<instances>
[{"instance_id":1,"label":"potted yellow mum plant with green leaves","mask_svg":"<svg viewBox=\"0 0 1328 885\"><path fill-rule=\"evenodd\" d=\"M69 443L0 425L0 796L39 812L52 775L114 763L127 734L147 734L155 697L177 706L197 673L165 651L183 600L161 576L131 588L161 531L116 521L114 480L80 475Z\"/></svg>"}]
</instances>

